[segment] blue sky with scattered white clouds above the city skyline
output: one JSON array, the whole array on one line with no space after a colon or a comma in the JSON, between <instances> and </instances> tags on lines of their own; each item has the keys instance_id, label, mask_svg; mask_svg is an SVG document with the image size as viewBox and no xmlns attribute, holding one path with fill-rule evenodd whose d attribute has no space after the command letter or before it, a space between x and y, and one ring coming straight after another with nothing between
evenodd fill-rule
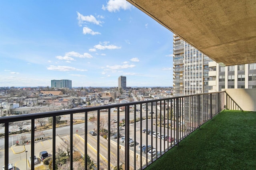
<instances>
[{"instance_id":1,"label":"blue sky with scattered white clouds above the city skyline","mask_svg":"<svg viewBox=\"0 0 256 170\"><path fill-rule=\"evenodd\" d=\"M1 0L0 87L172 86L172 36L125 0Z\"/></svg>"}]
</instances>

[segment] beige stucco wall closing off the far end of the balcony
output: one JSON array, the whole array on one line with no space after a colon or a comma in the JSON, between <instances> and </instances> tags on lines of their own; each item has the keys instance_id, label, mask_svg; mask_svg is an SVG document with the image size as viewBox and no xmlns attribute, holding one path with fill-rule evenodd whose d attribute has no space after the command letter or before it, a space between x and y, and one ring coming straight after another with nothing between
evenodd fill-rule
<instances>
[{"instance_id":1,"label":"beige stucco wall closing off the far end of the balcony","mask_svg":"<svg viewBox=\"0 0 256 170\"><path fill-rule=\"evenodd\" d=\"M223 89L244 111L256 111L256 89ZM226 96L226 95L225 95ZM226 99L225 99L226 100Z\"/></svg>"}]
</instances>

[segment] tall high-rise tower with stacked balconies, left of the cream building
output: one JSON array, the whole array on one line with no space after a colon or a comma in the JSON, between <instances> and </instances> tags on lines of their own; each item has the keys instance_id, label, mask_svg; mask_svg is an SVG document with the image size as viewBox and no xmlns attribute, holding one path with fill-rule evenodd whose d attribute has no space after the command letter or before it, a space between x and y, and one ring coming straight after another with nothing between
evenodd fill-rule
<instances>
[{"instance_id":1,"label":"tall high-rise tower with stacked balconies, left of the cream building","mask_svg":"<svg viewBox=\"0 0 256 170\"><path fill-rule=\"evenodd\" d=\"M212 89L208 62L212 60L175 34L173 54L173 95L208 93Z\"/></svg>"}]
</instances>

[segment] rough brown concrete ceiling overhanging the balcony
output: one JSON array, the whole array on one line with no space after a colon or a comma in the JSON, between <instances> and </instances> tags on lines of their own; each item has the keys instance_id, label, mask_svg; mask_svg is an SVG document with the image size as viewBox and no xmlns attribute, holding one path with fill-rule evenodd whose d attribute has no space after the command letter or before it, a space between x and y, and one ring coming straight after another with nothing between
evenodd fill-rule
<instances>
[{"instance_id":1,"label":"rough brown concrete ceiling overhanging the balcony","mask_svg":"<svg viewBox=\"0 0 256 170\"><path fill-rule=\"evenodd\" d=\"M256 63L256 0L127 1L217 63Z\"/></svg>"}]
</instances>

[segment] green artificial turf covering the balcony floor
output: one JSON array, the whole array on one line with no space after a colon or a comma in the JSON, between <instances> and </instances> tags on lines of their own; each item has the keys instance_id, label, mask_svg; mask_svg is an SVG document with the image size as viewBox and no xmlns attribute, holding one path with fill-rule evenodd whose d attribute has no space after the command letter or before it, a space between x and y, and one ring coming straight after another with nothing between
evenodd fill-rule
<instances>
[{"instance_id":1,"label":"green artificial turf covering the balcony floor","mask_svg":"<svg viewBox=\"0 0 256 170\"><path fill-rule=\"evenodd\" d=\"M146 170L256 170L256 112L225 110Z\"/></svg>"}]
</instances>

